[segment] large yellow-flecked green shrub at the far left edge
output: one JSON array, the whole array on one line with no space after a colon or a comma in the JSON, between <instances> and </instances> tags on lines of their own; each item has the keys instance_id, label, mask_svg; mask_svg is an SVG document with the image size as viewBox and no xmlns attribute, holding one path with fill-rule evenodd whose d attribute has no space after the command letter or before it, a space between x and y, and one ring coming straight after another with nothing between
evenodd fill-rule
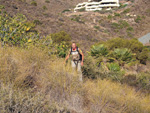
<instances>
[{"instance_id":1,"label":"large yellow-flecked green shrub at the far left edge","mask_svg":"<svg viewBox=\"0 0 150 113\"><path fill-rule=\"evenodd\" d=\"M0 38L3 45L25 46L26 43L38 39L38 34L34 31L35 24L27 22L22 14L10 17L3 13L0 15L0 23Z\"/></svg>"}]
</instances>

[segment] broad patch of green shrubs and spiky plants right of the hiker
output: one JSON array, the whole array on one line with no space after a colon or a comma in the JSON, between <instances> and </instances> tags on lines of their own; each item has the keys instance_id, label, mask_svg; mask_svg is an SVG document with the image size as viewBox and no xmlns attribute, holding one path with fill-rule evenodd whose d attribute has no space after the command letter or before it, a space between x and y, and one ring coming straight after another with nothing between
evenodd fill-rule
<instances>
[{"instance_id":1,"label":"broad patch of green shrubs and spiky plants right of the hiker","mask_svg":"<svg viewBox=\"0 0 150 113\"><path fill-rule=\"evenodd\" d=\"M111 39L92 46L83 73L88 78L106 78L150 90L149 50L137 39Z\"/></svg>"}]
</instances>

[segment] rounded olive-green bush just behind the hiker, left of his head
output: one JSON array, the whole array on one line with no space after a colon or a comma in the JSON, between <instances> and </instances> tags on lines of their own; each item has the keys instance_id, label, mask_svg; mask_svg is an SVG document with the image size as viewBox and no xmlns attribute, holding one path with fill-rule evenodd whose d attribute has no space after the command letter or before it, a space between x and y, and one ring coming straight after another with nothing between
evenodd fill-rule
<instances>
[{"instance_id":1,"label":"rounded olive-green bush just behind the hiker, left of his head","mask_svg":"<svg viewBox=\"0 0 150 113\"><path fill-rule=\"evenodd\" d=\"M71 36L65 31L60 31L58 33L51 34L51 37L53 42L58 44L66 42L66 44L69 45L71 41Z\"/></svg>"}]
</instances>

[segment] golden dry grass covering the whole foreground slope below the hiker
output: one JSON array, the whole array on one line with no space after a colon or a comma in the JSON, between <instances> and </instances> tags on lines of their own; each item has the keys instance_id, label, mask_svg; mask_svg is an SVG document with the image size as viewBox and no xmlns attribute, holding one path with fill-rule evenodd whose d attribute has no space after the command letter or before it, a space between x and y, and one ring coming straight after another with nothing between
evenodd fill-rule
<instances>
[{"instance_id":1,"label":"golden dry grass covering the whole foreground slope below the hiker","mask_svg":"<svg viewBox=\"0 0 150 113\"><path fill-rule=\"evenodd\" d=\"M150 95L107 80L80 83L64 59L44 50L6 47L0 56L0 112L150 112Z\"/></svg>"}]
</instances>

